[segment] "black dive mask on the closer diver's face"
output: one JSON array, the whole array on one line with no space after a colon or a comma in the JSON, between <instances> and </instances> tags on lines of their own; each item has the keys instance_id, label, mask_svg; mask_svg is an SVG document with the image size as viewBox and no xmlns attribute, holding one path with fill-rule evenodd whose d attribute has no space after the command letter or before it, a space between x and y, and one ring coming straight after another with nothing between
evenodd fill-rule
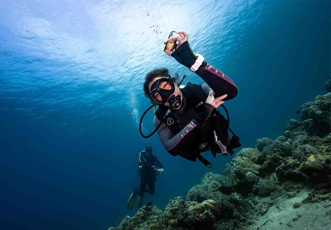
<instances>
[{"instance_id":1,"label":"black dive mask on the closer diver's face","mask_svg":"<svg viewBox=\"0 0 331 230\"><path fill-rule=\"evenodd\" d=\"M152 84L151 92L148 94L148 97L151 99L152 104L160 105L168 102L168 99L170 99L169 97L174 92L175 85L170 76L168 76L168 78L160 78Z\"/></svg>"}]
</instances>

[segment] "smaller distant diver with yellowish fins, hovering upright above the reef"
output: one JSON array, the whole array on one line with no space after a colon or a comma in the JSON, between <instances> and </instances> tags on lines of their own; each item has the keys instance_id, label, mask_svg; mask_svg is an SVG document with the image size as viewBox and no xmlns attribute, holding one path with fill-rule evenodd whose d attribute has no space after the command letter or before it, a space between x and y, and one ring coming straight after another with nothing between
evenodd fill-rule
<instances>
[{"instance_id":1,"label":"smaller distant diver with yellowish fins, hovering upright above the reef","mask_svg":"<svg viewBox=\"0 0 331 230\"><path fill-rule=\"evenodd\" d=\"M135 188L127 201L126 208L130 210L134 207L137 195L139 195L138 208L143 205L145 192L154 195L156 176L165 171L158 157L153 155L151 145L147 145L145 150L140 151L137 155L139 165L138 176L141 177L140 188ZM148 189L146 189L147 185Z\"/></svg>"}]
</instances>

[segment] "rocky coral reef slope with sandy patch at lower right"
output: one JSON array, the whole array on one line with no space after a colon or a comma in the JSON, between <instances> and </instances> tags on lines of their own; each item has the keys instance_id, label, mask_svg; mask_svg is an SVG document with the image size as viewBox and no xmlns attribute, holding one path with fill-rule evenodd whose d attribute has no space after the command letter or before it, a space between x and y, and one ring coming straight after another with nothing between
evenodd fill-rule
<instances>
[{"instance_id":1,"label":"rocky coral reef slope with sandy patch at lower right","mask_svg":"<svg viewBox=\"0 0 331 230\"><path fill-rule=\"evenodd\" d=\"M330 229L331 134L328 93L301 106L284 136L243 148L221 174L170 200L140 208L109 230Z\"/></svg>"}]
</instances>

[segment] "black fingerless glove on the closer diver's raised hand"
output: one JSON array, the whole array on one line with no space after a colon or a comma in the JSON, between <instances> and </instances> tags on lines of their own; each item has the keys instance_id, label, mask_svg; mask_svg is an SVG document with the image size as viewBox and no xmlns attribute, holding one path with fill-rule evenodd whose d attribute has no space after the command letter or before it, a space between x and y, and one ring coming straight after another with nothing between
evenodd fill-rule
<instances>
[{"instance_id":1,"label":"black fingerless glove on the closer diver's raised hand","mask_svg":"<svg viewBox=\"0 0 331 230\"><path fill-rule=\"evenodd\" d=\"M171 56L174 57L177 62L186 66L187 68L191 68L191 66L195 63L195 60L198 58L192 52L188 41L185 41L175 51L173 51Z\"/></svg>"}]
</instances>

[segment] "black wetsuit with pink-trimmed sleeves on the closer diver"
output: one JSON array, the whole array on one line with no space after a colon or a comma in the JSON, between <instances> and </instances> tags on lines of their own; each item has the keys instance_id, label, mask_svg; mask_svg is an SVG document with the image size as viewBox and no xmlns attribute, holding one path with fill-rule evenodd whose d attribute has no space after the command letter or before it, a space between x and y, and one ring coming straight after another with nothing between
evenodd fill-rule
<instances>
[{"instance_id":1,"label":"black wetsuit with pink-trimmed sleeves on the closer diver","mask_svg":"<svg viewBox=\"0 0 331 230\"><path fill-rule=\"evenodd\" d=\"M238 89L232 80L207 62L203 62L195 73L206 82L206 84L199 86L201 93L205 96L203 102L206 101L210 88L215 92L215 97L227 94L227 97L223 100L230 100L237 95ZM158 135L161 143L171 155L180 155L186 159L196 161L196 153L192 152L189 146L196 144L197 138L201 136L201 133L208 133L211 129L210 125L203 125L205 121L201 121L200 119L200 117L206 117L201 116L203 114L200 113L208 113L208 106L198 114L192 106L188 105L189 103L187 103L185 98L183 103L183 108L180 111L172 111L176 117L179 132L172 132L170 128L163 123L158 129ZM209 107L210 106L211 105L209 105ZM155 116L155 127L159 124L160 120Z\"/></svg>"}]
</instances>

